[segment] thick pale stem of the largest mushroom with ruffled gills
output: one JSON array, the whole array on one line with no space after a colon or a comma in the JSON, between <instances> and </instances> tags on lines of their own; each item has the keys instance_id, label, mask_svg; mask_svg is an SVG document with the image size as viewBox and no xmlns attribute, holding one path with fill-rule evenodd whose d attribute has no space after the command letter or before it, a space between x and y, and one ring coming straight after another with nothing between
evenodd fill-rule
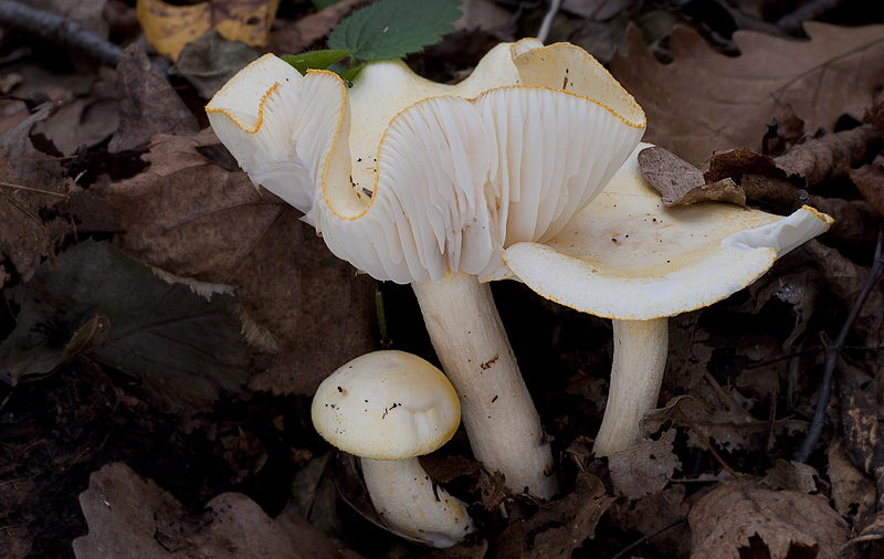
<instances>
[{"instance_id":1,"label":"thick pale stem of the largest mushroom with ruffled gills","mask_svg":"<svg viewBox=\"0 0 884 559\"><path fill-rule=\"evenodd\" d=\"M473 454L506 485L548 499L557 489L549 443L487 284L457 272L411 284L442 369L461 399Z\"/></svg>"}]
</instances>

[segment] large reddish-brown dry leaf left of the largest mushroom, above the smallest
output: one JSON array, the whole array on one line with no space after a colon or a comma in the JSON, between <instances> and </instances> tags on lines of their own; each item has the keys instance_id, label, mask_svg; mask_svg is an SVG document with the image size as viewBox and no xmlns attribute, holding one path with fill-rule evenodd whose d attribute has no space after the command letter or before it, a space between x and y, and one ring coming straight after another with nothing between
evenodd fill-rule
<instances>
[{"instance_id":1,"label":"large reddish-brown dry leaf left of the largest mushroom, above the smallest","mask_svg":"<svg viewBox=\"0 0 884 559\"><path fill-rule=\"evenodd\" d=\"M108 188L127 230L123 247L177 276L234 286L246 335L281 350L251 386L312 394L329 372L375 349L375 281L332 255L297 210L200 152L212 146L208 128L157 136L143 156L150 167Z\"/></svg>"}]
</instances>

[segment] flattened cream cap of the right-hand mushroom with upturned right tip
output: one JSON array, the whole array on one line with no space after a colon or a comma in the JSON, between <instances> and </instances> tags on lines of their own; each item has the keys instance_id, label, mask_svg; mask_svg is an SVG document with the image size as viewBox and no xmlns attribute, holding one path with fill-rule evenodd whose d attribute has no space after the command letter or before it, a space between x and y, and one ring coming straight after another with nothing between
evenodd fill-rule
<instances>
[{"instance_id":1,"label":"flattened cream cap of the right-hand mushroom with upturned right tip","mask_svg":"<svg viewBox=\"0 0 884 559\"><path fill-rule=\"evenodd\" d=\"M509 271L577 310L646 320L732 295L832 223L809 207L788 217L717 202L666 208L639 168L646 147L639 145L556 236L509 246L503 254Z\"/></svg>"}]
</instances>

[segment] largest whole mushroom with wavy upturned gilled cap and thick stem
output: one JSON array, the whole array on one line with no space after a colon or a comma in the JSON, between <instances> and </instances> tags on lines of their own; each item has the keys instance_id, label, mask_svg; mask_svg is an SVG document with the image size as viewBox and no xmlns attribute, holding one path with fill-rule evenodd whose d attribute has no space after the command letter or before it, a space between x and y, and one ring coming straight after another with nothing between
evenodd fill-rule
<instances>
[{"instance_id":1,"label":"largest whole mushroom with wavy upturned gilled cap and thick stem","mask_svg":"<svg viewBox=\"0 0 884 559\"><path fill-rule=\"evenodd\" d=\"M253 180L299 201L333 253L414 286L476 457L549 498L549 444L476 275L598 194L641 138L641 107L581 49L534 40L496 46L455 86L400 61L369 64L349 91L328 72L286 80L246 102L251 82L234 77L207 107L219 137L261 169Z\"/></svg>"}]
</instances>

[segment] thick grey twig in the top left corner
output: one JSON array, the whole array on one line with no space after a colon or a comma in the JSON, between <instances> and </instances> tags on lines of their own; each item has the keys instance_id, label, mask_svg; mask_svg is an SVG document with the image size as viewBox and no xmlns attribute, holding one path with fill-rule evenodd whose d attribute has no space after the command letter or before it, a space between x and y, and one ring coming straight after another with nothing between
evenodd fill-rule
<instances>
[{"instance_id":1,"label":"thick grey twig in the top left corner","mask_svg":"<svg viewBox=\"0 0 884 559\"><path fill-rule=\"evenodd\" d=\"M80 23L12 0L0 0L0 23L20 29L59 46L81 51L107 66L116 66L123 56L123 49L105 41Z\"/></svg>"}]
</instances>

